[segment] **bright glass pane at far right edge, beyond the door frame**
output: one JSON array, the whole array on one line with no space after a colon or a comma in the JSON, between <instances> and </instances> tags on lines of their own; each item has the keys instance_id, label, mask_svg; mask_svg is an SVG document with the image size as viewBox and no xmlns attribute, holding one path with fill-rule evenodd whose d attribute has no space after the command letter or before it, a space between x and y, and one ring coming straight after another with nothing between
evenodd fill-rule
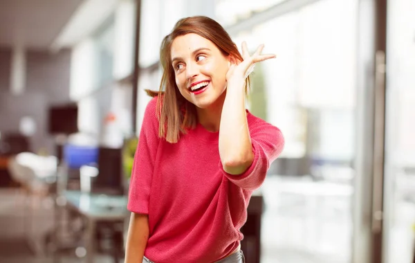
<instances>
[{"instance_id":1,"label":"bright glass pane at far right edge, beyond the door frame","mask_svg":"<svg viewBox=\"0 0 415 263\"><path fill-rule=\"evenodd\" d=\"M387 32L385 262L412 263L415 224L415 2L390 1Z\"/></svg>"}]
</instances>

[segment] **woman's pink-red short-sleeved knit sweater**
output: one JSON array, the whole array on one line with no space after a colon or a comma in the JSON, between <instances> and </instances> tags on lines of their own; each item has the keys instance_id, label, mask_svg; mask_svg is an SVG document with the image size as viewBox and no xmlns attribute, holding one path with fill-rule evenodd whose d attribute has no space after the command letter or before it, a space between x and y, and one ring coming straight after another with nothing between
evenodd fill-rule
<instances>
[{"instance_id":1,"label":"woman's pink-red short-sleeved knit sweater","mask_svg":"<svg viewBox=\"0 0 415 263\"><path fill-rule=\"evenodd\" d=\"M219 157L219 132L199 124L178 143L158 137L156 100L145 111L128 202L131 212L149 215L145 256L156 263L221 260L243 238L239 229L252 191L282 152L282 133L248 112L254 161L243 174L227 174Z\"/></svg>"}]
</instances>

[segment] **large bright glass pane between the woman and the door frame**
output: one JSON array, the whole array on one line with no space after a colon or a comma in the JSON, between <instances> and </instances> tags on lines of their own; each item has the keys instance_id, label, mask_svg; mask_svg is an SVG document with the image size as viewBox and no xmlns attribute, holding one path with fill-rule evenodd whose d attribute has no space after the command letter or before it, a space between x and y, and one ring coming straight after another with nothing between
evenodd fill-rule
<instances>
[{"instance_id":1,"label":"large bright glass pane between the woman and the door frame","mask_svg":"<svg viewBox=\"0 0 415 263\"><path fill-rule=\"evenodd\" d=\"M261 188L261 262L351 262L357 10L317 1L232 36L277 54L251 75L250 111L286 138Z\"/></svg>"}]
</instances>

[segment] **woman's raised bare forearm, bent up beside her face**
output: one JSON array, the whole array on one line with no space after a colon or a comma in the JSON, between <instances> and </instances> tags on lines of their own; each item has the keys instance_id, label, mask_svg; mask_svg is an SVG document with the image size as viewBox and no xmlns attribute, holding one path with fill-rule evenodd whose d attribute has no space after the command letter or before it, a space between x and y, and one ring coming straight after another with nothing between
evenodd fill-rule
<instances>
[{"instance_id":1,"label":"woman's raised bare forearm, bent up beside her face","mask_svg":"<svg viewBox=\"0 0 415 263\"><path fill-rule=\"evenodd\" d=\"M242 174L252 164L254 154L246 119L245 81L228 82L219 129L219 154L223 170Z\"/></svg>"}]
</instances>

